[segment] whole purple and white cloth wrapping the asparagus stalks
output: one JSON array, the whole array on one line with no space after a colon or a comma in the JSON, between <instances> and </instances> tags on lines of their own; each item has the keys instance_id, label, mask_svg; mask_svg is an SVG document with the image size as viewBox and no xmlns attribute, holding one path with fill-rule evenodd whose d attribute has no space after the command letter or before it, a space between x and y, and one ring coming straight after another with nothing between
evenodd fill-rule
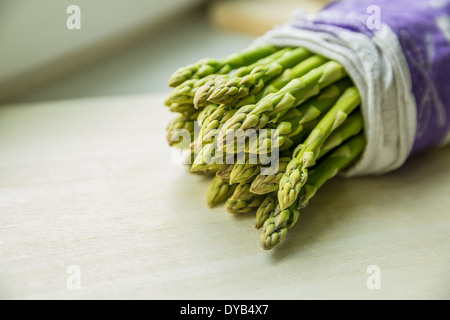
<instances>
[{"instance_id":1,"label":"whole purple and white cloth wrapping the asparagus stalks","mask_svg":"<svg viewBox=\"0 0 450 320\"><path fill-rule=\"evenodd\" d=\"M361 94L367 147L347 176L382 174L450 142L450 0L342 0L301 10L255 45L340 62Z\"/></svg>"}]
</instances>

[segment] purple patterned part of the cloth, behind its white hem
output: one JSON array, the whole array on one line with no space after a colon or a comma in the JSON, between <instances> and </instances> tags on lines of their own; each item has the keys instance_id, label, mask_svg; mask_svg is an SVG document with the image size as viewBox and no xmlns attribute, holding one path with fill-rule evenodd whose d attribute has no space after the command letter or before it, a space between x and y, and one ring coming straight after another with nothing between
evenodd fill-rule
<instances>
[{"instance_id":1,"label":"purple patterned part of the cloth, behind its white hem","mask_svg":"<svg viewBox=\"0 0 450 320\"><path fill-rule=\"evenodd\" d=\"M328 5L296 28L336 34L340 30L372 38L372 9L396 34L409 67L417 107L412 153L436 146L450 132L450 0L344 0Z\"/></svg>"}]
</instances>

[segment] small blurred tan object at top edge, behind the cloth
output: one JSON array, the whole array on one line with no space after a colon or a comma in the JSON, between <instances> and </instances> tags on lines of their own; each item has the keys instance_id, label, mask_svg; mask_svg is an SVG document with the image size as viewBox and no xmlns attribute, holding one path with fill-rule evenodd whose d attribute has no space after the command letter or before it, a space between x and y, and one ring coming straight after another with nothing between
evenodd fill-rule
<instances>
[{"instance_id":1,"label":"small blurred tan object at top edge, behind the cloth","mask_svg":"<svg viewBox=\"0 0 450 320\"><path fill-rule=\"evenodd\" d=\"M220 28L264 34L277 24L287 22L297 8L314 13L329 0L221 0L210 6L210 19Z\"/></svg>"}]
</instances>

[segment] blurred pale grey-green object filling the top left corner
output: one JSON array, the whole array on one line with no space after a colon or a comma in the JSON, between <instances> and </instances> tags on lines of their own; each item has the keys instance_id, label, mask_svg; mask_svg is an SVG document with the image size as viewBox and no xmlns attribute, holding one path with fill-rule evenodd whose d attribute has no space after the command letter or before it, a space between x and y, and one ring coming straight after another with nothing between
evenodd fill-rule
<instances>
[{"instance_id":1,"label":"blurred pale grey-green object filling the top left corner","mask_svg":"<svg viewBox=\"0 0 450 320\"><path fill-rule=\"evenodd\" d=\"M161 30L205 0L2 0L0 101L55 80ZM80 29L67 21L76 5ZM117 74L120 77L120 74Z\"/></svg>"}]
</instances>

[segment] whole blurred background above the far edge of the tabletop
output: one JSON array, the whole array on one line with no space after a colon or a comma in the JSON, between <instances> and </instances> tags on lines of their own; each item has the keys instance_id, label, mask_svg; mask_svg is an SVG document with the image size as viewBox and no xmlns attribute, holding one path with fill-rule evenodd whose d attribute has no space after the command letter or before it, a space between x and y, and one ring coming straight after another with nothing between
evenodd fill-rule
<instances>
[{"instance_id":1,"label":"whole blurred background above the far edge of the tabletop","mask_svg":"<svg viewBox=\"0 0 450 320\"><path fill-rule=\"evenodd\" d=\"M294 9L327 2L1 0L0 104L168 92L175 69L242 50Z\"/></svg>"}]
</instances>

